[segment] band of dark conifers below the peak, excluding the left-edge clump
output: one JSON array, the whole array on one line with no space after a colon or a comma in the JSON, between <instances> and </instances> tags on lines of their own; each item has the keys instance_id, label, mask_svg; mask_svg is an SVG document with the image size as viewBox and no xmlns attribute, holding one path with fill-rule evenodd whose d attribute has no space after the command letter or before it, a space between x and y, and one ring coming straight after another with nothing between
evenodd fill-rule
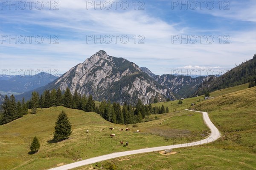
<instances>
[{"instance_id":1,"label":"band of dark conifers below the peak, excluding the left-edge clump","mask_svg":"<svg viewBox=\"0 0 256 170\"><path fill-rule=\"evenodd\" d=\"M169 112L168 107L152 107L151 104L144 105L139 99L137 104L132 106L131 104L124 104L121 106L119 103L110 101L102 101L98 106L95 105L93 96L78 94L75 90L74 95L67 88L64 95L61 93L61 89L52 89L52 91L45 90L39 97L38 92L32 92L32 98L28 103L28 108L32 109L32 113L36 112L36 108L48 108L52 106L65 106L67 108L80 109L85 112L96 112L101 115L105 120L116 124L134 124L142 122L143 118L150 114L161 114Z\"/></svg>"}]
</instances>

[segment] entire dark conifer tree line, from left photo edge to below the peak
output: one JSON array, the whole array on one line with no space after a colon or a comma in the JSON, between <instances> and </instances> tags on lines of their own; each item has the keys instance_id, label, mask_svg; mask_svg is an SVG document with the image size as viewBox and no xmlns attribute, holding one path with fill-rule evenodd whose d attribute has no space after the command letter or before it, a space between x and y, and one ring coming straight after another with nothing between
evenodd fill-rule
<instances>
[{"instance_id":1,"label":"entire dark conifer tree line, from left photo edge to below the peak","mask_svg":"<svg viewBox=\"0 0 256 170\"><path fill-rule=\"evenodd\" d=\"M95 105L93 96L78 94L75 90L74 95L67 88L62 95L61 89L58 88L45 90L42 95L39 96L38 92L32 92L31 99L25 103L24 98L22 102L16 102L14 95L10 98L6 95L3 102L3 114L0 120L0 124L6 124L17 118L27 114L28 109L31 109L31 114L37 112L37 108L49 108L54 106L65 106L67 108L80 109L85 112L96 112L101 115L105 120L116 124L134 124L143 121L143 118L150 114L162 114L169 112L168 107L152 107L151 104L144 105L139 99L135 106L131 104L124 104L121 106L119 103L110 101L102 101L98 106Z\"/></svg>"}]
</instances>

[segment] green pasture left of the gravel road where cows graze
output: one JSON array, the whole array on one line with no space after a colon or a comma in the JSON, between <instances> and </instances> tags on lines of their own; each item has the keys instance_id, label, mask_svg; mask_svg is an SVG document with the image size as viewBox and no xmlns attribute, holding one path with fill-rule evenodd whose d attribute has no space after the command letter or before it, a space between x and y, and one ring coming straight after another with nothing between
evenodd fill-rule
<instances>
[{"instance_id":1,"label":"green pasture left of the gravel road where cows graze","mask_svg":"<svg viewBox=\"0 0 256 170\"><path fill-rule=\"evenodd\" d=\"M67 113L73 133L65 141L50 143L61 110ZM157 116L160 119L137 124L136 128L129 125L131 130L126 132L119 131L125 125L112 124L94 112L65 107L38 109L35 115L24 115L0 126L0 169L47 169L108 153L195 141L207 134L200 113L186 111ZM102 128L105 130L99 131ZM87 129L89 133L85 133ZM141 133L135 133L136 130ZM115 133L116 138L110 138L110 133ZM29 144L35 135L41 147L38 153L29 155ZM121 147L120 140L129 141L129 146Z\"/></svg>"}]
</instances>

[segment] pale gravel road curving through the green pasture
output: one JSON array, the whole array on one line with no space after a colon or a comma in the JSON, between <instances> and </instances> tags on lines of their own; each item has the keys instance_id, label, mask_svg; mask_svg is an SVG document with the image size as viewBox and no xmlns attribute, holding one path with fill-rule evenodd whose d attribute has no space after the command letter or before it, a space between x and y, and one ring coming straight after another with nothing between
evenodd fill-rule
<instances>
[{"instance_id":1,"label":"pale gravel road curving through the green pasture","mask_svg":"<svg viewBox=\"0 0 256 170\"><path fill-rule=\"evenodd\" d=\"M186 110L189 110L189 109L186 109ZM194 111L194 110L189 110L189 111ZM195 111L195 112L199 112L199 111ZM77 162L74 162L71 164L66 164L66 165L63 165L60 167L55 167L50 170L69 170L69 169L72 169L75 167L80 167L80 166L87 165L87 164L93 164L95 162L105 161L108 159L117 158L117 157L121 157L121 156L134 155L134 154L138 154L138 153L148 153L148 152L160 151L160 150L164 150L164 149L173 149L173 148L179 148L179 147L190 147L190 146L196 146L196 145L201 145L201 144L207 144L207 143L213 142L213 141L217 140L218 138L220 138L221 135L220 135L217 127L215 127L214 124L212 123L212 121L210 120L208 113L207 112L201 112L201 113L203 113L203 118L204 118L205 124L207 124L207 126L211 130L211 134L207 138L205 138L201 141L195 141L195 142L186 143L186 144L175 144L175 145L169 145L169 146L163 146L163 147L150 147L150 148L139 149L139 150L129 150L129 151L124 151L124 152L111 153L108 155L97 156L94 158L85 159L83 161L77 161Z\"/></svg>"}]
</instances>

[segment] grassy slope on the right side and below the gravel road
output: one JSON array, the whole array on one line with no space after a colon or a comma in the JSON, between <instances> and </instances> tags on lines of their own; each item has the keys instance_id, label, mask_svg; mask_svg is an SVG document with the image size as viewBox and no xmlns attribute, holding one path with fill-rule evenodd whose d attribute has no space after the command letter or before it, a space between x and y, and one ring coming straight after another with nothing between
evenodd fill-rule
<instances>
[{"instance_id":1,"label":"grassy slope on the right side and below the gravel road","mask_svg":"<svg viewBox=\"0 0 256 170\"><path fill-rule=\"evenodd\" d=\"M230 94L225 93L226 90L230 91L230 88L222 89L224 96L192 107L209 112L222 138L201 146L175 149L178 153L171 156L145 153L110 161L116 162L118 170L255 170L256 87L234 90L236 92ZM105 162L93 165L101 167ZM89 167L91 165L76 170L87 170Z\"/></svg>"}]
</instances>

